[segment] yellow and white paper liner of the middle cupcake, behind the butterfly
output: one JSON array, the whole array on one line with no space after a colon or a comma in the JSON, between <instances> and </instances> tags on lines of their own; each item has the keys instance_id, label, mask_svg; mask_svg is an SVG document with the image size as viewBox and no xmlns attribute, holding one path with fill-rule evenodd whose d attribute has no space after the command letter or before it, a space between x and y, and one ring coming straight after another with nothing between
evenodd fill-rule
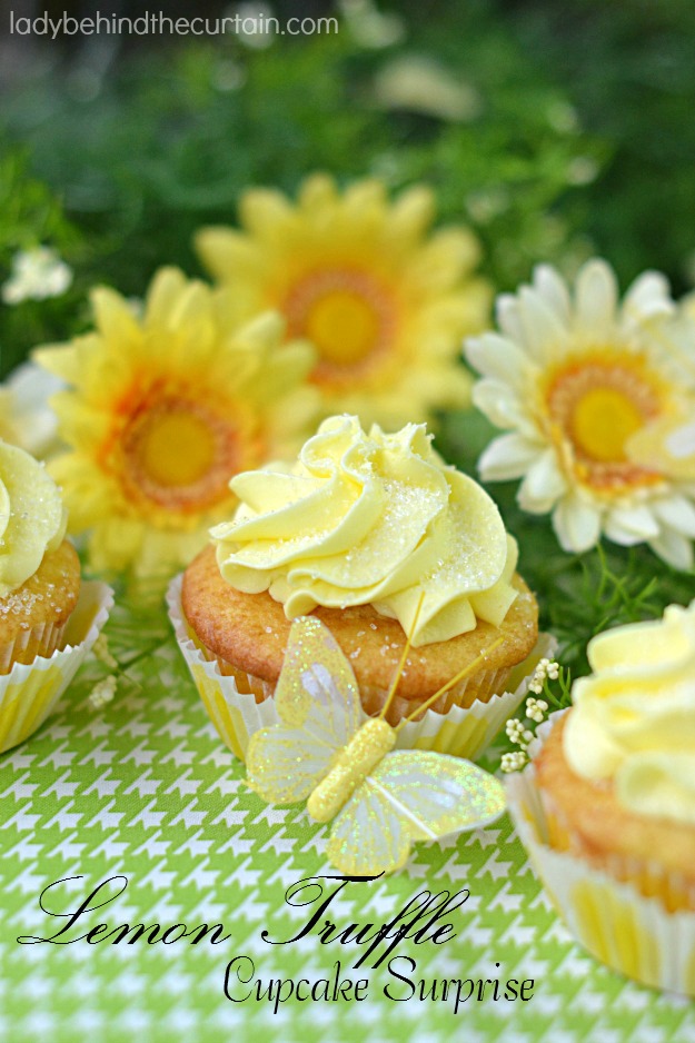
<instances>
[{"instance_id":1,"label":"yellow and white paper liner of the middle cupcake, behind the butterfly","mask_svg":"<svg viewBox=\"0 0 695 1043\"><path fill-rule=\"evenodd\" d=\"M181 578L177 576L167 593L169 618L177 642L220 738L235 756L244 761L251 735L279 722L275 703L267 697L269 693L258 689L264 682L238 670L229 674L228 664L222 665L216 657L210 658L203 653L191 636L181 610ZM419 721L408 722L398 732L396 746L436 749L470 759L479 756L524 699L538 659L552 655L554 647L552 637L540 635L530 656L512 670L508 678L510 688L514 684L512 691L494 695L488 702L476 699L469 707L451 706L446 713L428 709ZM364 699L361 691L360 695Z\"/></svg>"}]
</instances>

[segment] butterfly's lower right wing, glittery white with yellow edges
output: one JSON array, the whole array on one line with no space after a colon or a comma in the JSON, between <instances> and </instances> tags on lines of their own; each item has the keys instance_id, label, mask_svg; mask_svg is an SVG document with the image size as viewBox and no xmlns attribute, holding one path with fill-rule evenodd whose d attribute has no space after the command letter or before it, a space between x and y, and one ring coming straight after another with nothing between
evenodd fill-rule
<instances>
[{"instance_id":1,"label":"butterfly's lower right wing, glittery white with yellow edges","mask_svg":"<svg viewBox=\"0 0 695 1043\"><path fill-rule=\"evenodd\" d=\"M391 873L413 841L487 825L506 806L502 783L469 761L425 749L387 754L337 816L328 856L341 873Z\"/></svg>"}]
</instances>

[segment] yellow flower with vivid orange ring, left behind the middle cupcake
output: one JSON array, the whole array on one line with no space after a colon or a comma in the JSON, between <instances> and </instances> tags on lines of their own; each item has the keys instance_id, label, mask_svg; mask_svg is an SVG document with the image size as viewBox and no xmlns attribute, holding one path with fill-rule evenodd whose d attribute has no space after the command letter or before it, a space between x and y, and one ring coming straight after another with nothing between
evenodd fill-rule
<instances>
[{"instance_id":1,"label":"yellow flower with vivid orange ring, left behind the middle cupcake","mask_svg":"<svg viewBox=\"0 0 695 1043\"><path fill-rule=\"evenodd\" d=\"M161 576L186 564L229 515L229 479L291 455L308 434L314 351L282 344L266 312L240 319L225 290L166 268L141 318L110 289L96 330L34 358L69 385L52 405L70 447L50 465L91 565Z\"/></svg>"}]
</instances>

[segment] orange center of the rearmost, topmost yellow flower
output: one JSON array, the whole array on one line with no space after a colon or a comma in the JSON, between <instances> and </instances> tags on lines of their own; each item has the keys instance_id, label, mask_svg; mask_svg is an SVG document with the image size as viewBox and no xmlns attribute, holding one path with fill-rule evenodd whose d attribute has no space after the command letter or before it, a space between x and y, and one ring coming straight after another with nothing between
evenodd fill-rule
<instances>
[{"instance_id":1,"label":"orange center of the rearmost, topmost yellow flower","mask_svg":"<svg viewBox=\"0 0 695 1043\"><path fill-rule=\"evenodd\" d=\"M361 271L312 272L292 287L285 309L290 335L311 340L319 352L312 375L318 383L349 383L373 368L393 342L390 296Z\"/></svg>"}]
</instances>

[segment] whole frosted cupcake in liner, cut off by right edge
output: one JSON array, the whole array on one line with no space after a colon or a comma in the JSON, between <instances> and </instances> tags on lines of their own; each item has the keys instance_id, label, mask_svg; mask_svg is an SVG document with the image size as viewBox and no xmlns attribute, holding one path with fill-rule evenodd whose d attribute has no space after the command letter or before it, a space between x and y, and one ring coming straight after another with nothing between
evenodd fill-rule
<instances>
[{"instance_id":1,"label":"whole frosted cupcake in liner, cut off by right edge","mask_svg":"<svg viewBox=\"0 0 695 1043\"><path fill-rule=\"evenodd\" d=\"M600 634L588 657L510 808L578 940L695 995L695 602Z\"/></svg>"}]
</instances>

